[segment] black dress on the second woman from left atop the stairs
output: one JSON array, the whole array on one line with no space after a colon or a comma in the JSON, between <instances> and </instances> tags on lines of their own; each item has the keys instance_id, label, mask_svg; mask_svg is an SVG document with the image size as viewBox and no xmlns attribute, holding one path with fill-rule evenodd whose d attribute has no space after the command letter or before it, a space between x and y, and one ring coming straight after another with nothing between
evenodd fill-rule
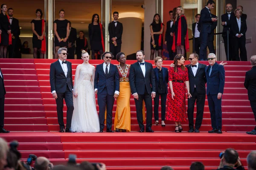
<instances>
[{"instance_id":1,"label":"black dress on the second woman from left atop the stairs","mask_svg":"<svg viewBox=\"0 0 256 170\"><path fill-rule=\"evenodd\" d=\"M34 23L36 33L42 35L42 20L32 20L31 23ZM33 48L41 48L42 40L38 40L38 37L33 33Z\"/></svg>"}]
</instances>

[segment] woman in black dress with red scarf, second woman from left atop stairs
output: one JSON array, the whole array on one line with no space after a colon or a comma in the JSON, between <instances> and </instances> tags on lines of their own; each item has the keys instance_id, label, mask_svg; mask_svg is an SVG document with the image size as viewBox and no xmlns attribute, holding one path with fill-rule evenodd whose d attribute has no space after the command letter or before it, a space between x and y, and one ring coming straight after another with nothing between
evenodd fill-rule
<instances>
[{"instance_id":1,"label":"woman in black dress with red scarf, second woman from left atop stairs","mask_svg":"<svg viewBox=\"0 0 256 170\"><path fill-rule=\"evenodd\" d=\"M33 55L34 58L38 58L38 51L40 52L40 58L44 58L46 42L45 42L45 20L42 19L43 12L41 9L35 11L36 18L31 21L33 31ZM43 28L44 24L44 28ZM43 28L43 30L42 30ZM44 45L44 47L43 47Z\"/></svg>"}]
</instances>

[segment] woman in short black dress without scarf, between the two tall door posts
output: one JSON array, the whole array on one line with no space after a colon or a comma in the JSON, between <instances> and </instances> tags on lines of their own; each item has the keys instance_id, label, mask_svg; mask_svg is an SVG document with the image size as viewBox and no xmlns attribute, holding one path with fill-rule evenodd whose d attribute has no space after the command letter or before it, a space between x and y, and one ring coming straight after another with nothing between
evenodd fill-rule
<instances>
[{"instance_id":1,"label":"woman in short black dress without scarf, between the two tall door posts","mask_svg":"<svg viewBox=\"0 0 256 170\"><path fill-rule=\"evenodd\" d=\"M55 43L55 53L54 58L58 58L58 49L60 47L67 48L68 45L68 35L69 35L69 21L64 19L65 11L61 9L59 11L60 18L54 21L54 43Z\"/></svg>"}]
</instances>

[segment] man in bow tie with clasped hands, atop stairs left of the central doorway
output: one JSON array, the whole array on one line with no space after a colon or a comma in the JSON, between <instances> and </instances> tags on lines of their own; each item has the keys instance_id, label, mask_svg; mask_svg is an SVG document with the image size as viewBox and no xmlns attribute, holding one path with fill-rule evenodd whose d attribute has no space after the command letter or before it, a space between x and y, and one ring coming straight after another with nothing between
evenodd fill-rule
<instances>
[{"instance_id":1,"label":"man in bow tie with clasped hands, atop stairs left of the central doorway","mask_svg":"<svg viewBox=\"0 0 256 170\"><path fill-rule=\"evenodd\" d=\"M116 57L121 51L122 44L122 23L118 21L118 12L113 12L114 20L108 25L110 52Z\"/></svg>"}]
</instances>

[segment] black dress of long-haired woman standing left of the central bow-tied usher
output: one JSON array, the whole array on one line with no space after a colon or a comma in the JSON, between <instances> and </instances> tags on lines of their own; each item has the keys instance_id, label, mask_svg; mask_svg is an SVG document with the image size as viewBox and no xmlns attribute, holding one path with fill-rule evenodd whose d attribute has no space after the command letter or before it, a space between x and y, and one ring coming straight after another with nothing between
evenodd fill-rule
<instances>
[{"instance_id":1,"label":"black dress of long-haired woman standing left of the central bow-tied usher","mask_svg":"<svg viewBox=\"0 0 256 170\"><path fill-rule=\"evenodd\" d=\"M103 50L100 26L89 24L89 37L91 50Z\"/></svg>"}]
</instances>

